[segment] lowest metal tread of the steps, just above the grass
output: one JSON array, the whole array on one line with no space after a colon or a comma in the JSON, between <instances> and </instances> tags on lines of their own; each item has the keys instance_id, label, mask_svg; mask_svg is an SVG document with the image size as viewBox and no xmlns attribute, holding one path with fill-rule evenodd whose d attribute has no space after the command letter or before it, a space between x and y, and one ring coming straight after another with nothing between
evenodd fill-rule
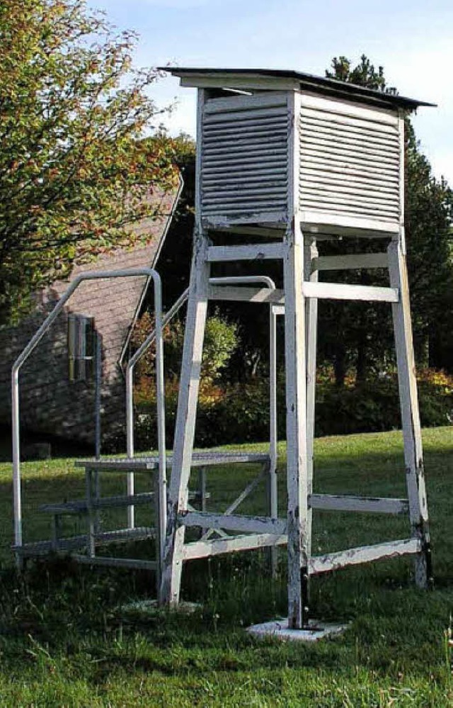
<instances>
[{"instance_id":1,"label":"lowest metal tread of the steps, just above the grass","mask_svg":"<svg viewBox=\"0 0 453 708\"><path fill-rule=\"evenodd\" d=\"M123 543L125 541L144 541L144 539L154 538L156 531L152 527L137 527L135 529L116 529L115 531L105 531L94 534L96 546L103 546L109 543ZM86 534L81 536L69 536L57 541L33 541L22 546L13 546L14 553L21 556L45 556L52 551L71 551L84 548L88 544Z\"/></svg>"}]
</instances>

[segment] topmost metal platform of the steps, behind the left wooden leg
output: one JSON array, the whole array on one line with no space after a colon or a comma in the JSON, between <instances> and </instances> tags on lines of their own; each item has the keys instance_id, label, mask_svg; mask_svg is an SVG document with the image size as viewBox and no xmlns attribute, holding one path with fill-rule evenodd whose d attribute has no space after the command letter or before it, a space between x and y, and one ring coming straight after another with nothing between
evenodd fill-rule
<instances>
[{"instance_id":1,"label":"topmost metal platform of the steps, behind the left wooden leg","mask_svg":"<svg viewBox=\"0 0 453 708\"><path fill-rule=\"evenodd\" d=\"M210 450L206 452L194 452L192 455L192 467L203 467L208 465L223 465L246 462L267 462L270 459L266 452L222 452ZM159 457L123 457L103 460L78 460L76 467L84 467L87 470L111 470L118 472L130 471L153 471L159 468ZM173 465L173 455L166 457L167 467Z\"/></svg>"}]
</instances>

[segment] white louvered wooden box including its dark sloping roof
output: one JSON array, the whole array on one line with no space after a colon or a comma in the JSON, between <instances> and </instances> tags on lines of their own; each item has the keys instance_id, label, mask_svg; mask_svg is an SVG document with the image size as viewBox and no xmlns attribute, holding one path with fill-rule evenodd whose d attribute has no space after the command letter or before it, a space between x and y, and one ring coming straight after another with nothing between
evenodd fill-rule
<instances>
[{"instance_id":1,"label":"white louvered wooden box including its dark sloping roof","mask_svg":"<svg viewBox=\"0 0 453 708\"><path fill-rule=\"evenodd\" d=\"M430 105L299 72L170 69L197 86L205 227L394 235L403 225L404 112Z\"/></svg>"}]
</instances>

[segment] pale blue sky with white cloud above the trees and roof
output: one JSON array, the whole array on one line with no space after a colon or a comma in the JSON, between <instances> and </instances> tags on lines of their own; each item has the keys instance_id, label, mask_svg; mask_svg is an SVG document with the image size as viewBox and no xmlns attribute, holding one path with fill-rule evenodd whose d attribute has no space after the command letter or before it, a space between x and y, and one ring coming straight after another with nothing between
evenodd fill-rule
<instances>
[{"instance_id":1,"label":"pale blue sky with white cloud above the trees and roof","mask_svg":"<svg viewBox=\"0 0 453 708\"><path fill-rule=\"evenodd\" d=\"M382 65L399 94L437 103L413 118L434 174L453 186L453 0L87 0L139 33L139 67L260 67L324 76L333 57ZM160 79L172 134L195 135L195 89Z\"/></svg>"}]
</instances>

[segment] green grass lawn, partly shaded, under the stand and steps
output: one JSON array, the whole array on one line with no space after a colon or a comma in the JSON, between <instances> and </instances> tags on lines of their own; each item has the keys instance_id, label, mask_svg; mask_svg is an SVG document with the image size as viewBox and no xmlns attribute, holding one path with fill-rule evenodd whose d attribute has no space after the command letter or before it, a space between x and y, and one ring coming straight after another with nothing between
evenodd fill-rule
<instances>
[{"instance_id":1,"label":"green grass lawn, partly shaded, under the stand and steps","mask_svg":"<svg viewBox=\"0 0 453 708\"><path fill-rule=\"evenodd\" d=\"M258 641L243 630L286 614L285 549L275 580L262 552L188 563L183 596L200 603L191 615L131 607L154 597L154 578L144 571L54 559L30 564L19 578L8 551L11 465L1 463L0 707L453 706L446 634L453 612L453 428L426 430L424 445L435 589L414 588L406 558L314 578L314 616L350 622L343 636L316 645ZM398 432L318 439L315 451L315 491L404 495ZM280 453L283 511L283 446ZM24 463L25 540L49 534L40 503L83 493L72 462ZM224 509L254 473L253 466L213 468L210 508ZM117 484L117 477L105 478L108 493ZM263 499L260 489L241 509L263 512ZM408 523L319 512L314 531L318 554L404 538ZM142 544L137 553L151 547Z\"/></svg>"}]
</instances>

